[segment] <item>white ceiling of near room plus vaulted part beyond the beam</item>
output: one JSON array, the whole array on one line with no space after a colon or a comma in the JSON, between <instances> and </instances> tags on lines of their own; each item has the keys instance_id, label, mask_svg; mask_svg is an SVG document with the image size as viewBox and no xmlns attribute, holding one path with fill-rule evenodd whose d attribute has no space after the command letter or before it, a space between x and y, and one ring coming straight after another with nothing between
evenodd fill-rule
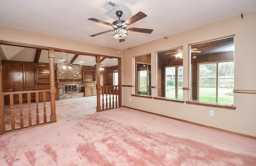
<instances>
[{"instance_id":1,"label":"white ceiling of near room plus vaulted part beyond the beam","mask_svg":"<svg viewBox=\"0 0 256 166\"><path fill-rule=\"evenodd\" d=\"M256 10L256 0L114 0L119 6L105 14L99 10L105 2L0 0L0 25L121 50ZM136 13L144 12L148 16L130 27L154 29L153 32L144 34L128 31L128 38L121 43L112 38L112 32L90 37L111 30L112 27L87 19L96 18L112 24L118 20L117 10L123 12L121 20L128 20ZM36 49L1 45L0 52L4 60L21 60L22 57L23 61L34 62ZM66 53L56 52L55 57L55 63L63 63L60 59L66 60ZM74 54L68 54L69 61L73 57ZM48 62L48 52L42 50L39 62ZM80 55L74 64L93 66L95 58ZM114 66L117 60L105 59L102 64Z\"/></svg>"}]
</instances>

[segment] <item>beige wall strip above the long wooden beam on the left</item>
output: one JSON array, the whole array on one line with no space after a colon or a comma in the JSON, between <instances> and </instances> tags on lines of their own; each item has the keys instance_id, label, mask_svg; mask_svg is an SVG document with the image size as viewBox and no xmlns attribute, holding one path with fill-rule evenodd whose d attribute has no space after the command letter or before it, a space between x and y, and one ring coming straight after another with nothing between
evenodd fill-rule
<instances>
[{"instance_id":1,"label":"beige wall strip above the long wooden beam on the left","mask_svg":"<svg viewBox=\"0 0 256 166\"><path fill-rule=\"evenodd\" d=\"M0 25L0 40L48 46L72 51L87 52L92 54L121 57L122 52L117 49L97 46L75 40L20 30Z\"/></svg>"}]
</instances>

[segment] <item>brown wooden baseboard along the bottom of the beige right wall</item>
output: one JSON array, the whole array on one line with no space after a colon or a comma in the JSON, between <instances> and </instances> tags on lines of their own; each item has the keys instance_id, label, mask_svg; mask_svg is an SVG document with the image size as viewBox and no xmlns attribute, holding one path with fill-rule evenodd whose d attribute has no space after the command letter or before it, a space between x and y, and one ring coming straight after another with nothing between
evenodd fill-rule
<instances>
[{"instance_id":1,"label":"brown wooden baseboard along the bottom of the beige right wall","mask_svg":"<svg viewBox=\"0 0 256 166\"><path fill-rule=\"evenodd\" d=\"M219 130L219 131L222 131L222 132L227 132L227 133L230 133L230 134L235 134L235 135L238 135L238 136L244 136L244 137L256 139L256 136L250 136L250 135L247 135L247 134L242 134L242 133L239 133L239 132L233 132L233 131L225 130L225 129L222 129L222 128L216 128L216 127L212 127L212 126L208 126L208 125L204 125L204 124L200 124L200 123L190 122L188 120L182 120L182 119L179 119L179 118L173 118L171 116L156 114L156 113L153 113L153 112L148 112L148 111L144 111L144 110L140 110L140 109L136 109L136 108L132 108L132 107L127 107L127 106L123 106L123 107L130 108L130 109L137 110L137 111L141 111L141 112L146 112L146 113L149 113L149 114L154 114L154 115L162 116L162 117L165 117L165 118L170 118L170 119L173 119L173 120L178 120L178 121L181 121L181 122L186 122L186 123L194 124L194 125L197 125L197 126L202 126L202 127L211 128L211 129L214 129L214 130Z\"/></svg>"}]
</instances>

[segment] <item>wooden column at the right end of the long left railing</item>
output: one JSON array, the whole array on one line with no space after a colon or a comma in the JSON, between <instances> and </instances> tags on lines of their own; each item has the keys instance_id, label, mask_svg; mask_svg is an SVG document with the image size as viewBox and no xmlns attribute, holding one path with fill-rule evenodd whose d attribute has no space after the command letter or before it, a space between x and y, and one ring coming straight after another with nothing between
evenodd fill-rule
<instances>
[{"instance_id":1,"label":"wooden column at the right end of the long left railing","mask_svg":"<svg viewBox=\"0 0 256 166\"><path fill-rule=\"evenodd\" d=\"M54 80L54 50L49 50L49 67L50 67L50 101L51 101L51 122L57 122L56 105L55 105L55 80Z\"/></svg>"}]
</instances>

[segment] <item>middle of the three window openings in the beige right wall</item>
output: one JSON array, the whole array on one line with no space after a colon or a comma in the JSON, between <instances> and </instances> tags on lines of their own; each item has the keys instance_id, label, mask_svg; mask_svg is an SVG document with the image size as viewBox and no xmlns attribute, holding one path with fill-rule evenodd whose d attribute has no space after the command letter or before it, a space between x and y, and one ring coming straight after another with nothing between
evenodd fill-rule
<instances>
[{"instance_id":1,"label":"middle of the three window openings in the beige right wall","mask_svg":"<svg viewBox=\"0 0 256 166\"><path fill-rule=\"evenodd\" d=\"M183 48L158 52L158 96L183 99Z\"/></svg>"}]
</instances>

